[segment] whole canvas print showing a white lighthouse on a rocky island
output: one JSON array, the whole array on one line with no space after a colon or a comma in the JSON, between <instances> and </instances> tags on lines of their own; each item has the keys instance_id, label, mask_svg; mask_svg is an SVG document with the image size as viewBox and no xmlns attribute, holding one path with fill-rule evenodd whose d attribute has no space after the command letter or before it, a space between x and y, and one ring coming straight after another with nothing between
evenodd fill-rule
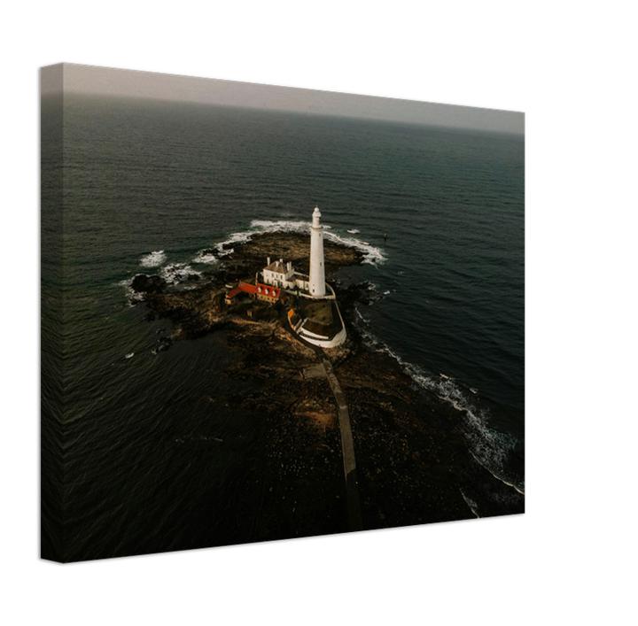
<instances>
[{"instance_id":1,"label":"whole canvas print showing a white lighthouse on a rocky island","mask_svg":"<svg viewBox=\"0 0 638 626\"><path fill-rule=\"evenodd\" d=\"M44 560L525 515L525 111L41 72Z\"/></svg>"}]
</instances>

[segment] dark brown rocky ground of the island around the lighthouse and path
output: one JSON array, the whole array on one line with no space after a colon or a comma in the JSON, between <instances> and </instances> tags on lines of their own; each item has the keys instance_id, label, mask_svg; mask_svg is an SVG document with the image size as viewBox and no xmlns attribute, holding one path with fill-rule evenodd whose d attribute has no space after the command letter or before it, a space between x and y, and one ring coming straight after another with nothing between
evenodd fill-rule
<instances>
[{"instance_id":1,"label":"dark brown rocky ground of the island around the lighthouse and path","mask_svg":"<svg viewBox=\"0 0 638 626\"><path fill-rule=\"evenodd\" d=\"M231 398L237 409L257 416L257 445L249 467L237 476L232 503L236 514L224 541L243 544L346 533L335 398L325 378L303 375L320 357L278 321L242 319L228 313L222 302L224 285L254 276L268 256L292 260L295 268L307 272L307 236L256 235L232 248L222 267L191 290L167 289L159 276L140 275L133 282L133 289L144 295L149 318L166 317L174 324L159 349L224 329L240 360L223 375L260 382L246 384L244 394ZM359 251L330 241L324 243L324 256L328 279L338 267L362 262ZM351 323L354 304L366 298L366 287L336 290L347 339L323 351L350 414L364 530L476 520L469 502L477 503L487 517L502 515L502 509L481 501L477 484L490 477L482 476L488 473L471 459L462 413L417 388L389 354L370 350Z\"/></svg>"}]
</instances>

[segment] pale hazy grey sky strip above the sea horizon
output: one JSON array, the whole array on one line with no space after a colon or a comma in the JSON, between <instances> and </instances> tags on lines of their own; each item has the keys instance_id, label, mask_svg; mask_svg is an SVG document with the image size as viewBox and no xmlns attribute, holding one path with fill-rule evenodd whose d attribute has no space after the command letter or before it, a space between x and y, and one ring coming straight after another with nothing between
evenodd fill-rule
<instances>
[{"instance_id":1,"label":"pale hazy grey sky strip above the sea horizon","mask_svg":"<svg viewBox=\"0 0 638 626\"><path fill-rule=\"evenodd\" d=\"M525 112L522 111L75 63L44 66L41 89L43 94L64 89L65 92L74 93L253 106L320 115L478 128L520 135L525 133Z\"/></svg>"}]
</instances>

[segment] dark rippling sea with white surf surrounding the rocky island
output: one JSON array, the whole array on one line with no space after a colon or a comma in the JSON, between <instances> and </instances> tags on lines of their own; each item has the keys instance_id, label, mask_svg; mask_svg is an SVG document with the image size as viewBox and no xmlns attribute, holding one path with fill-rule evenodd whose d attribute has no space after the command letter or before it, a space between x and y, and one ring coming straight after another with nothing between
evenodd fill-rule
<instances>
[{"instance_id":1,"label":"dark rippling sea with white surf surrounding the rocky island","mask_svg":"<svg viewBox=\"0 0 638 626\"><path fill-rule=\"evenodd\" d=\"M66 93L41 142L43 559L224 545L254 444L238 357L223 331L158 350L170 322L130 284L188 289L315 205L364 253L335 276L367 285L364 341L461 412L497 511L525 511L524 135Z\"/></svg>"}]
</instances>

